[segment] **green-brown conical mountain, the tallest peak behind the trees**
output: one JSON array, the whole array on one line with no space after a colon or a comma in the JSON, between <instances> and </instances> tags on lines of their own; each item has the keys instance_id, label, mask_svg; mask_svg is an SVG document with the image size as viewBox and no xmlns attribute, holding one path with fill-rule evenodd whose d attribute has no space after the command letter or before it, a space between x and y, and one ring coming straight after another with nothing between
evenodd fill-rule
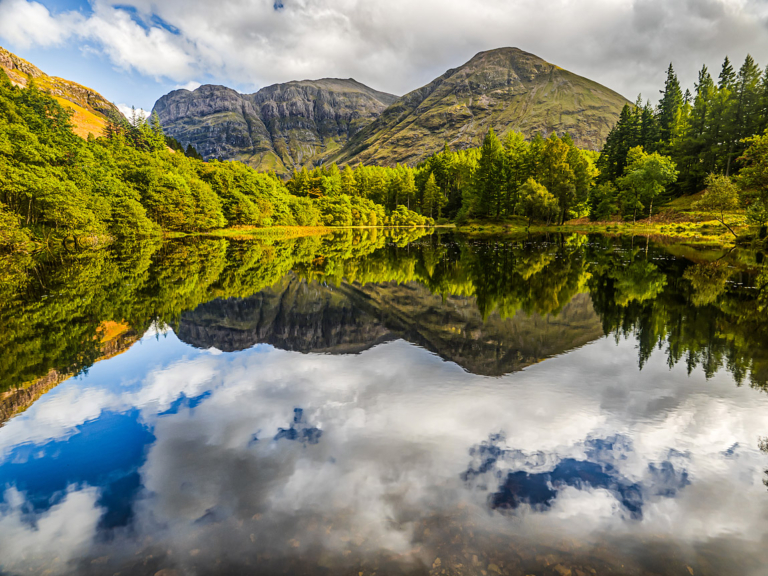
<instances>
[{"instance_id":1,"label":"green-brown conical mountain, the tallest peak behind the trees","mask_svg":"<svg viewBox=\"0 0 768 576\"><path fill-rule=\"evenodd\" d=\"M627 99L518 48L480 52L387 108L327 162L416 164L443 148L479 146L493 127L527 137L568 132L599 150Z\"/></svg>"}]
</instances>

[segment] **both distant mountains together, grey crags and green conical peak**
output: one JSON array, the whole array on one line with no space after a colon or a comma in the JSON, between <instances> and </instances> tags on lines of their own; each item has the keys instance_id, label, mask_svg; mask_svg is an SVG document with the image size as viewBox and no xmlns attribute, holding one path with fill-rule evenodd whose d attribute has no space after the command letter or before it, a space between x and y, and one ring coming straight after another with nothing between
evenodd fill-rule
<instances>
[{"instance_id":1,"label":"both distant mountains together, grey crags and green conical peak","mask_svg":"<svg viewBox=\"0 0 768 576\"><path fill-rule=\"evenodd\" d=\"M290 172L322 162L416 164L478 146L488 129L527 137L568 132L598 150L627 99L517 48L481 52L401 98L355 80L175 90L154 110L168 134L205 158Z\"/></svg>"}]
</instances>

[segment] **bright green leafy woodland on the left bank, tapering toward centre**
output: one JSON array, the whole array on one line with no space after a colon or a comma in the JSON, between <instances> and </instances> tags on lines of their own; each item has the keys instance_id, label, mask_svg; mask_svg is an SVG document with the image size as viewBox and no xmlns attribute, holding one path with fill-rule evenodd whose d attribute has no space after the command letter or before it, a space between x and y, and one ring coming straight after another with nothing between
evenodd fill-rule
<instances>
[{"instance_id":1,"label":"bright green leafy woodland on the left bank, tapering toward centre","mask_svg":"<svg viewBox=\"0 0 768 576\"><path fill-rule=\"evenodd\" d=\"M296 196L273 174L204 162L174 144L157 118L143 117L112 118L103 136L83 140L55 99L0 71L0 247L227 226L431 223L359 196Z\"/></svg>"}]
</instances>

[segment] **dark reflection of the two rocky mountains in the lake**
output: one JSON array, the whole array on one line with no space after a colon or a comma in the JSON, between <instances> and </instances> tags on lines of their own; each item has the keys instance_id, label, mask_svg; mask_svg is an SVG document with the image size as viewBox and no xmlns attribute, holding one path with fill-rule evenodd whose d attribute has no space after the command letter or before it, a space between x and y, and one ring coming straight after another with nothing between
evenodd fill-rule
<instances>
[{"instance_id":1,"label":"dark reflection of the two rocky mountains in the lake","mask_svg":"<svg viewBox=\"0 0 768 576\"><path fill-rule=\"evenodd\" d=\"M349 354L403 338L464 369L500 376L603 335L587 294L555 318L519 313L483 321L474 298L446 300L416 283L342 284L331 290L293 274L244 299L215 300L182 314L177 335L231 352L255 344Z\"/></svg>"}]
</instances>

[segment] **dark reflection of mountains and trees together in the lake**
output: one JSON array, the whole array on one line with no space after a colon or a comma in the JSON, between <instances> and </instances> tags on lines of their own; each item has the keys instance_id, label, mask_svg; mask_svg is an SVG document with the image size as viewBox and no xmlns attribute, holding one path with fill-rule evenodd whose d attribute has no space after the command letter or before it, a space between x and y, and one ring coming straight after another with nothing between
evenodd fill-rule
<instances>
[{"instance_id":1,"label":"dark reflection of mountains and trees together in the lake","mask_svg":"<svg viewBox=\"0 0 768 576\"><path fill-rule=\"evenodd\" d=\"M587 236L464 239L346 231L193 239L5 257L0 420L168 324L222 351L267 343L357 353L403 338L466 370L517 371L603 334L670 366L768 384L768 268L728 255ZM672 252L670 252L672 250ZM687 250L687 251L686 251ZM23 391L23 392L22 392Z\"/></svg>"}]
</instances>

